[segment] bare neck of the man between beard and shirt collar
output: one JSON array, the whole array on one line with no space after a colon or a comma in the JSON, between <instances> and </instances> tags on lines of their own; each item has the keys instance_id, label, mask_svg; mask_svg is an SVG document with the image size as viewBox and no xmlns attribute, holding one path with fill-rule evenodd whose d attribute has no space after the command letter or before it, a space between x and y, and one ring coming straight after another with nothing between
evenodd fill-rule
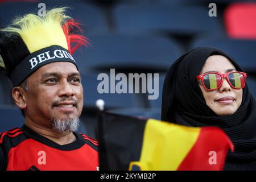
<instances>
[{"instance_id":1,"label":"bare neck of the man between beard and shirt collar","mask_svg":"<svg viewBox=\"0 0 256 182\"><path fill-rule=\"evenodd\" d=\"M69 144L76 140L76 136L71 131L59 133L57 131L52 130L51 128L39 126L36 123L28 121L25 121L25 125L29 127L31 130L38 133L39 135L42 135L43 137L46 137L60 145Z\"/></svg>"}]
</instances>

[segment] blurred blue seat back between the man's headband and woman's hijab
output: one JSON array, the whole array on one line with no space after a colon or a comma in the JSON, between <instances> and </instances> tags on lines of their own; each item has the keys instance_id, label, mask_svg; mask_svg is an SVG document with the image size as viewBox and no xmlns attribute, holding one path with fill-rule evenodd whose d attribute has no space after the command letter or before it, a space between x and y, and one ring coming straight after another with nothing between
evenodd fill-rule
<instances>
[{"instance_id":1,"label":"blurred blue seat back between the man's headband and woman's hijab","mask_svg":"<svg viewBox=\"0 0 256 182\"><path fill-rule=\"evenodd\" d=\"M166 71L183 53L175 42L152 36L101 35L89 39L91 47L74 53L82 72L110 68Z\"/></svg>"}]
</instances>

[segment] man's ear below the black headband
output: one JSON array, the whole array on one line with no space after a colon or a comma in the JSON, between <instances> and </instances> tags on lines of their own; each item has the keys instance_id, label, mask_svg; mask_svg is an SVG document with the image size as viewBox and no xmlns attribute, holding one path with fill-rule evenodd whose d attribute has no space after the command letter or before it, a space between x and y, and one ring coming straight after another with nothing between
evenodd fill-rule
<instances>
[{"instance_id":1,"label":"man's ear below the black headband","mask_svg":"<svg viewBox=\"0 0 256 182\"><path fill-rule=\"evenodd\" d=\"M13 88L13 99L15 104L20 108L20 109L25 109L27 107L27 103L26 103L26 97L25 97L25 90L20 87L20 86L16 86Z\"/></svg>"}]
</instances>

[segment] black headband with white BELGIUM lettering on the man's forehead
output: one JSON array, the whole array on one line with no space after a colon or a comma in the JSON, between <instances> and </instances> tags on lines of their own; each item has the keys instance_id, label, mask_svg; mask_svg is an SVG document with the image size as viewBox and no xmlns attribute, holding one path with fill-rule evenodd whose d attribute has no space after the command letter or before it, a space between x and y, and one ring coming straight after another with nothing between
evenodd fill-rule
<instances>
[{"instance_id":1,"label":"black headband with white BELGIUM lettering on the man's forehead","mask_svg":"<svg viewBox=\"0 0 256 182\"><path fill-rule=\"evenodd\" d=\"M11 72L10 78L13 86L21 84L22 81L43 65L57 61L67 61L76 65L76 61L68 50L60 46L50 46L31 53L31 55L22 60L13 72Z\"/></svg>"}]
</instances>

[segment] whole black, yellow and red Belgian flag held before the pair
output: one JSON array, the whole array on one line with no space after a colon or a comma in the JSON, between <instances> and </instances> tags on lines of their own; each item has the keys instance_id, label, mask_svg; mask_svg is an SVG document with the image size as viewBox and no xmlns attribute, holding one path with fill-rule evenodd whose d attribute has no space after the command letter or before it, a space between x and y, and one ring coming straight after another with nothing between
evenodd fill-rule
<instances>
[{"instance_id":1,"label":"whole black, yellow and red Belgian flag held before the pair","mask_svg":"<svg viewBox=\"0 0 256 182\"><path fill-rule=\"evenodd\" d=\"M233 144L217 127L100 112L101 170L222 170Z\"/></svg>"}]
</instances>

